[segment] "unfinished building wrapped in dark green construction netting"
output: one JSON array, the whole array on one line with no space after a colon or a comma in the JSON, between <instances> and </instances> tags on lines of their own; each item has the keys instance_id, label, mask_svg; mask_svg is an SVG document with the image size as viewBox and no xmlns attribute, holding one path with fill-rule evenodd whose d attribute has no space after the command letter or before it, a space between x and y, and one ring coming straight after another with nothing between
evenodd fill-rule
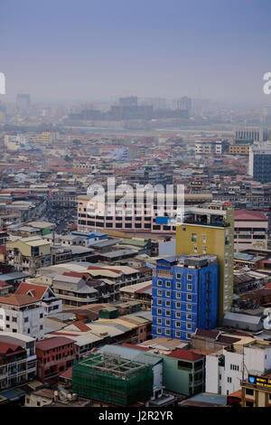
<instances>
[{"instance_id":1,"label":"unfinished building wrapped in dark green construction netting","mask_svg":"<svg viewBox=\"0 0 271 425\"><path fill-rule=\"evenodd\" d=\"M72 392L114 406L146 401L153 395L153 382L150 365L119 355L94 354L72 368Z\"/></svg>"}]
</instances>

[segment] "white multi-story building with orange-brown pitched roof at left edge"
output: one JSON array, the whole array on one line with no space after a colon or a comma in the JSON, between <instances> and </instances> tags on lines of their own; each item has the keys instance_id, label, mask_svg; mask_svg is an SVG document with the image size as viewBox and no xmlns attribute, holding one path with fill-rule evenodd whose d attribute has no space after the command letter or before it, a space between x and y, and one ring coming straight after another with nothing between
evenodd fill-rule
<instances>
[{"instance_id":1,"label":"white multi-story building with orange-brown pitched roof at left edge","mask_svg":"<svg viewBox=\"0 0 271 425\"><path fill-rule=\"evenodd\" d=\"M0 297L1 331L43 339L44 314L45 308L40 305L38 298L24 294Z\"/></svg>"}]
</instances>

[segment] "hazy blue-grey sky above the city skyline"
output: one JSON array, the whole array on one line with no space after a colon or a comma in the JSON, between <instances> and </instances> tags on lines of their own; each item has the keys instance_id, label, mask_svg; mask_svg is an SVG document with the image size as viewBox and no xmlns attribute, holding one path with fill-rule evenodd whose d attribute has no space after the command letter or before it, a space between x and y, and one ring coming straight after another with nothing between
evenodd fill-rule
<instances>
[{"instance_id":1,"label":"hazy blue-grey sky above the city skyline","mask_svg":"<svg viewBox=\"0 0 271 425\"><path fill-rule=\"evenodd\" d=\"M270 0L0 0L6 95L262 101Z\"/></svg>"}]
</instances>

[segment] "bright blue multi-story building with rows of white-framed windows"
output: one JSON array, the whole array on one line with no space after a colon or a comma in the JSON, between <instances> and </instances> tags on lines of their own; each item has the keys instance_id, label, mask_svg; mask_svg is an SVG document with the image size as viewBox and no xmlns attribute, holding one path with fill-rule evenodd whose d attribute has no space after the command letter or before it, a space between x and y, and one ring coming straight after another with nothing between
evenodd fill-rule
<instances>
[{"instance_id":1,"label":"bright blue multi-story building with rows of white-framed windows","mask_svg":"<svg viewBox=\"0 0 271 425\"><path fill-rule=\"evenodd\" d=\"M216 255L186 255L156 261L153 277L153 337L190 341L218 323L219 265Z\"/></svg>"}]
</instances>

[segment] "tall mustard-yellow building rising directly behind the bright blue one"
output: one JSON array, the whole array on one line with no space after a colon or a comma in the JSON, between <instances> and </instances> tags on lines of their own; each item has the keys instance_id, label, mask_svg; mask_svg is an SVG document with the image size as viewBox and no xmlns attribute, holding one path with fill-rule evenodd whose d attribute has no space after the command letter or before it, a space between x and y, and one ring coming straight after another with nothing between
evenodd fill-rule
<instances>
[{"instance_id":1,"label":"tall mustard-yellow building rising directly behind the bright blue one","mask_svg":"<svg viewBox=\"0 0 271 425\"><path fill-rule=\"evenodd\" d=\"M176 255L217 255L219 262L219 324L233 298L234 210L230 203L209 203L186 209L176 227Z\"/></svg>"}]
</instances>

